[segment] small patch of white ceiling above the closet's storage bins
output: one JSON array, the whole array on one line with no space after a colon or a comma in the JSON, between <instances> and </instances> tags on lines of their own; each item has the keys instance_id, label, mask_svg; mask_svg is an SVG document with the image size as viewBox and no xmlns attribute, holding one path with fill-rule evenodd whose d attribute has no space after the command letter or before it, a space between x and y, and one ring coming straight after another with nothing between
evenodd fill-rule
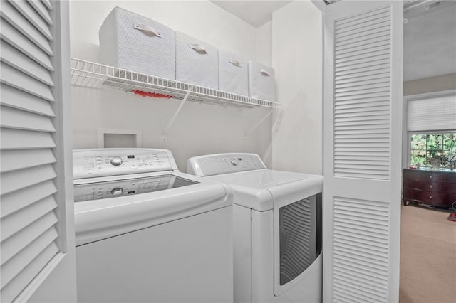
<instances>
[{"instance_id":1,"label":"small patch of white ceiling above the closet's storage bins","mask_svg":"<svg viewBox=\"0 0 456 303\"><path fill-rule=\"evenodd\" d=\"M282 6L292 1L218 1L211 0L225 11L241 18L254 27L260 27L271 21L271 15Z\"/></svg>"}]
</instances>

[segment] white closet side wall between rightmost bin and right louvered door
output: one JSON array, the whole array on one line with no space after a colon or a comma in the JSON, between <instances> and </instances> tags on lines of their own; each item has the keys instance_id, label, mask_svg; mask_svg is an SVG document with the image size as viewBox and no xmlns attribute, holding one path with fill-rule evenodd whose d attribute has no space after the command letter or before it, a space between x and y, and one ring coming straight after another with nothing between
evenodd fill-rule
<instances>
[{"instance_id":1,"label":"white closet side wall between rightmost bin and right louvered door","mask_svg":"<svg viewBox=\"0 0 456 303\"><path fill-rule=\"evenodd\" d=\"M272 15L272 67L283 116L274 114L274 169L322 174L321 11L294 1Z\"/></svg>"}]
</instances>

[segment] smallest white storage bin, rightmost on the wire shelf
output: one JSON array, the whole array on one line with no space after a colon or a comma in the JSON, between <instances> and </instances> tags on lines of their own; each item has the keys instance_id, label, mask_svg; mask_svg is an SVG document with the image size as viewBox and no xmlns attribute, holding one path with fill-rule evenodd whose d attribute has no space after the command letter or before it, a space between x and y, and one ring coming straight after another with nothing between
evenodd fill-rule
<instances>
[{"instance_id":1,"label":"smallest white storage bin, rightmost on the wire shelf","mask_svg":"<svg viewBox=\"0 0 456 303\"><path fill-rule=\"evenodd\" d=\"M249 61L249 96L262 100L276 101L273 68Z\"/></svg>"}]
</instances>

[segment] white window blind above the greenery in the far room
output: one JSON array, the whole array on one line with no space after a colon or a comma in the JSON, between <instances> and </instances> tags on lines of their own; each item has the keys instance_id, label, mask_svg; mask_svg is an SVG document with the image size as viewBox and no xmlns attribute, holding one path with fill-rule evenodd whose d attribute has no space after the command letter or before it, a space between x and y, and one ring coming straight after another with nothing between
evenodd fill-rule
<instances>
[{"instance_id":1,"label":"white window blind above the greenery in the far room","mask_svg":"<svg viewBox=\"0 0 456 303\"><path fill-rule=\"evenodd\" d=\"M456 129L456 93L407 102L407 130Z\"/></svg>"}]
</instances>

